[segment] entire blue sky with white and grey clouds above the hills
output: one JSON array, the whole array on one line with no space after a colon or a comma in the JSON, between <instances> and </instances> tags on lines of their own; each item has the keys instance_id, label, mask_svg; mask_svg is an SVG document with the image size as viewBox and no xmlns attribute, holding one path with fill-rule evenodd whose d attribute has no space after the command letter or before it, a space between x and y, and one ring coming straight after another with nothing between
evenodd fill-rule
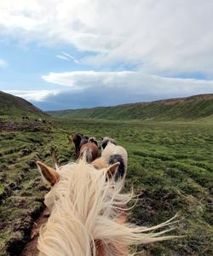
<instances>
[{"instance_id":1,"label":"entire blue sky with white and grey clouds above the hills","mask_svg":"<svg viewBox=\"0 0 213 256\"><path fill-rule=\"evenodd\" d=\"M0 90L43 110L213 93L213 1L0 0Z\"/></svg>"}]
</instances>

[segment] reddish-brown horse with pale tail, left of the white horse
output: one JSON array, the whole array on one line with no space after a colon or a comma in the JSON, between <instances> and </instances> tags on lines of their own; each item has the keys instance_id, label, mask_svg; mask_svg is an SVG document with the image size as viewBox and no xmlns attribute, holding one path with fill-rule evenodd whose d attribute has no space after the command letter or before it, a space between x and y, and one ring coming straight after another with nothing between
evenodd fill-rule
<instances>
[{"instance_id":1,"label":"reddish-brown horse with pale tail, left of the white horse","mask_svg":"<svg viewBox=\"0 0 213 256\"><path fill-rule=\"evenodd\" d=\"M87 143L83 143L80 147L78 160L85 155L86 161L91 163L99 156L98 143L95 140L95 137L89 137Z\"/></svg>"}]
</instances>

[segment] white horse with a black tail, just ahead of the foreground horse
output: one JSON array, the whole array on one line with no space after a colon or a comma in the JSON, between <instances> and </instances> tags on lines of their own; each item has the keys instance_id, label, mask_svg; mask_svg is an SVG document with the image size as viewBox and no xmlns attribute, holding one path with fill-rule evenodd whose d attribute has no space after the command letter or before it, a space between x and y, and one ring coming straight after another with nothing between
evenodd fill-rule
<instances>
[{"instance_id":1,"label":"white horse with a black tail, just ahead of the foreground horse","mask_svg":"<svg viewBox=\"0 0 213 256\"><path fill-rule=\"evenodd\" d=\"M118 162L118 172L116 173L115 181L118 178L123 178L126 175L128 154L125 148L115 145L110 141L107 142L107 146L101 153L101 157L92 161L92 165L96 169L106 168L107 166Z\"/></svg>"}]
</instances>

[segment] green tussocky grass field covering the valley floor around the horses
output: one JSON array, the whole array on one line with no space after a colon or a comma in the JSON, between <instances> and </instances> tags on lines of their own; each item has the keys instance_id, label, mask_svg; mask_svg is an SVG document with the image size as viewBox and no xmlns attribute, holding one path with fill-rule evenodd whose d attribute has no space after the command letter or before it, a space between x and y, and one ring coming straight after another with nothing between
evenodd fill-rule
<instances>
[{"instance_id":1,"label":"green tussocky grass field covering the valley floor around the horses","mask_svg":"<svg viewBox=\"0 0 213 256\"><path fill-rule=\"evenodd\" d=\"M172 234L181 235L139 247L144 255L213 255L213 125L55 121L36 131L0 132L0 254L19 255L33 220L43 209L43 185L35 166L72 160L67 134L114 137L129 153L126 189L139 195L130 219L152 225L179 212Z\"/></svg>"}]
</instances>

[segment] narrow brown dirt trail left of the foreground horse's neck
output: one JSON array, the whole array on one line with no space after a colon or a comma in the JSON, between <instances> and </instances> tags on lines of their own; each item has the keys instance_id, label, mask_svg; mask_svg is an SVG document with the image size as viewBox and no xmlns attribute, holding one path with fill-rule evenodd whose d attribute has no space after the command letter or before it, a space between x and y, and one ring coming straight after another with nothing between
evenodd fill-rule
<instances>
[{"instance_id":1,"label":"narrow brown dirt trail left of the foreground horse's neck","mask_svg":"<svg viewBox=\"0 0 213 256\"><path fill-rule=\"evenodd\" d=\"M31 241L29 241L24 247L20 256L36 256L37 255L37 238L39 234L39 230L43 224L47 222L49 218L49 211L47 208L43 210L40 217L37 218L35 224L33 225L31 232Z\"/></svg>"}]
</instances>

